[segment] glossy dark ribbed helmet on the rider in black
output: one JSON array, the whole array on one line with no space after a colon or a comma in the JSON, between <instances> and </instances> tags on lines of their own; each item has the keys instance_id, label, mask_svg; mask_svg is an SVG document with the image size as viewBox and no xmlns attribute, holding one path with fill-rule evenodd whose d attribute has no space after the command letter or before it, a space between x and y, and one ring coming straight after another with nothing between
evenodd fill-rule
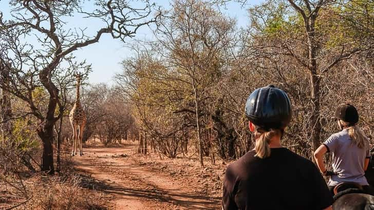
<instances>
[{"instance_id":1,"label":"glossy dark ribbed helmet on the rider in black","mask_svg":"<svg viewBox=\"0 0 374 210\"><path fill-rule=\"evenodd\" d=\"M246 103L246 116L264 128L284 129L291 121L291 102L285 91L268 85L254 90Z\"/></svg>"}]
</instances>

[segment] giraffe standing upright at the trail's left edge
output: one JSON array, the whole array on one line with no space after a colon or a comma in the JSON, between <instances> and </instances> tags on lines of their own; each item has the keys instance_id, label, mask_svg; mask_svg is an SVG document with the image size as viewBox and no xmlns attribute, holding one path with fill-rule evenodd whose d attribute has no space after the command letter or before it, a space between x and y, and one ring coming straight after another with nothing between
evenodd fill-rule
<instances>
[{"instance_id":1,"label":"giraffe standing upright at the trail's left edge","mask_svg":"<svg viewBox=\"0 0 374 210\"><path fill-rule=\"evenodd\" d=\"M77 97L76 102L74 103L73 108L70 111L69 119L71 126L73 128L73 148L71 150L71 156L76 155L77 151L77 144L79 144L79 155L83 155L82 151L82 137L83 137L83 131L86 126L86 114L84 112L84 109L81 105L80 99L79 99L79 91L80 91L80 85L81 85L81 74L76 74L77 77Z\"/></svg>"}]
</instances>

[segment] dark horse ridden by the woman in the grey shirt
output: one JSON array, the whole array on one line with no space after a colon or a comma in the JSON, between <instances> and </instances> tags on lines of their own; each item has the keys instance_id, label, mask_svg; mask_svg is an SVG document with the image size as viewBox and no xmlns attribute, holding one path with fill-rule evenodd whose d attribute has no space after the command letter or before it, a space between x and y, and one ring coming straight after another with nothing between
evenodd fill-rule
<instances>
[{"instance_id":1,"label":"dark horse ridden by the woman in the grey shirt","mask_svg":"<svg viewBox=\"0 0 374 210\"><path fill-rule=\"evenodd\" d=\"M370 150L370 161L365 171L369 185L374 184L374 148ZM374 210L374 196L363 194L359 187L342 190L334 196L332 209L334 210Z\"/></svg>"}]
</instances>

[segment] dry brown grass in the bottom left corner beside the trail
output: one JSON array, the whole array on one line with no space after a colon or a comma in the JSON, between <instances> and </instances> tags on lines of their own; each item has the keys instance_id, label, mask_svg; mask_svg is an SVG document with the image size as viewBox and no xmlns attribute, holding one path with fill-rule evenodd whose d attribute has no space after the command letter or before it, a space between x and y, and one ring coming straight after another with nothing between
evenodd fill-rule
<instances>
[{"instance_id":1,"label":"dry brown grass in the bottom left corner beside the trail","mask_svg":"<svg viewBox=\"0 0 374 210\"><path fill-rule=\"evenodd\" d=\"M3 182L0 184L0 208L10 209L21 204L13 209L109 209L110 197L85 188L85 182L85 177L79 175L57 177L36 174L24 180L27 197Z\"/></svg>"}]
</instances>

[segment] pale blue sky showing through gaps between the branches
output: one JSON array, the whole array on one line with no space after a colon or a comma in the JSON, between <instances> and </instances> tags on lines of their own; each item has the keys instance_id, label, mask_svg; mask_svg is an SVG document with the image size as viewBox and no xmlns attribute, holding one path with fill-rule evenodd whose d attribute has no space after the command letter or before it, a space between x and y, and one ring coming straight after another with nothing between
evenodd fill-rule
<instances>
[{"instance_id":1,"label":"pale blue sky showing through gaps between the branches","mask_svg":"<svg viewBox=\"0 0 374 210\"><path fill-rule=\"evenodd\" d=\"M84 9L90 11L94 8L94 1L86 1L84 4ZM151 1L152 2L152 1ZM170 8L170 1L159 0L153 1L157 5L163 8ZM250 5L259 4L263 0L249 0ZM135 1L135 6L141 6L142 4ZM220 7L220 10L227 15L236 18L238 27L245 27L248 24L247 8L241 7L239 3L228 3L226 7ZM5 19L7 19L9 14L8 1L0 0L0 11L4 13ZM66 18L64 21L67 22L69 28L80 27L87 28L86 32L90 35L94 35L100 26L103 26L99 20L88 20L83 18L81 15L77 14L73 17ZM152 39L152 32L147 27L144 26L135 36L138 40L149 40ZM30 38L28 42L35 42L33 38ZM127 39L127 43L123 43L120 40L114 40L109 34L104 34L99 43L89 45L82 49L74 51L79 61L86 60L88 64L92 64L92 72L89 75L90 83L108 83L113 84L113 77L116 72L121 72L122 67L120 62L125 58L131 56L132 52L126 48L126 45L134 42L133 39Z\"/></svg>"}]
</instances>

